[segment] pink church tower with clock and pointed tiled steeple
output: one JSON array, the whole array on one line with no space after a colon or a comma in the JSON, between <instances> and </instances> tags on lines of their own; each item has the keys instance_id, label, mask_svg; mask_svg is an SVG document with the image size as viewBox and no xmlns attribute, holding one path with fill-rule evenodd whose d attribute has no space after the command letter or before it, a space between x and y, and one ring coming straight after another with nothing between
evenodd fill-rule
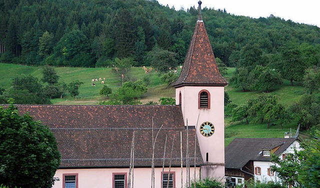
<instances>
[{"instance_id":1,"label":"pink church tower with clock and pointed tiled steeple","mask_svg":"<svg viewBox=\"0 0 320 188\"><path fill-rule=\"evenodd\" d=\"M224 86L201 16L198 20L175 88L185 126L195 126L204 165L201 178L224 177Z\"/></svg>"}]
</instances>

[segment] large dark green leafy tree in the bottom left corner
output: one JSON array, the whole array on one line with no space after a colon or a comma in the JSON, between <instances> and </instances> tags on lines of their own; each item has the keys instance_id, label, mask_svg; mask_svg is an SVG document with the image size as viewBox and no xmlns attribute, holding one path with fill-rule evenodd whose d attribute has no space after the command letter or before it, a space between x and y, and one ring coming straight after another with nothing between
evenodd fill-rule
<instances>
[{"instance_id":1,"label":"large dark green leafy tree in the bottom left corner","mask_svg":"<svg viewBox=\"0 0 320 188\"><path fill-rule=\"evenodd\" d=\"M31 116L20 116L12 104L0 106L0 184L51 187L60 153L49 128Z\"/></svg>"}]
</instances>

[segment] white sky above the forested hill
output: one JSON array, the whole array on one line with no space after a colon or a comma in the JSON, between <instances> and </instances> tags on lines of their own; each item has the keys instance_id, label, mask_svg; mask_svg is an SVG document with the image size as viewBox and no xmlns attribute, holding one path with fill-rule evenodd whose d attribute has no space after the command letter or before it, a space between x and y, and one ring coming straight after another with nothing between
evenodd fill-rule
<instances>
[{"instance_id":1,"label":"white sky above the forested hill","mask_svg":"<svg viewBox=\"0 0 320 188\"><path fill-rule=\"evenodd\" d=\"M198 0L157 0L160 4L176 10L190 6L198 7ZM222 9L235 15L253 18L267 17L270 14L291 19L294 22L317 25L320 27L320 0L201 0L201 8Z\"/></svg>"}]
</instances>

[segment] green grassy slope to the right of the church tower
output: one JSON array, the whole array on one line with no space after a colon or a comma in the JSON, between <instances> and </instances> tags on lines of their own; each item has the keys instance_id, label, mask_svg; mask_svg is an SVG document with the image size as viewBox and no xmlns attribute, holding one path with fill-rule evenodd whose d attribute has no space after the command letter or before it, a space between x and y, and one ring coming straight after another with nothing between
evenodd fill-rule
<instances>
[{"instance_id":1,"label":"green grassy slope to the right of the church tower","mask_svg":"<svg viewBox=\"0 0 320 188\"><path fill-rule=\"evenodd\" d=\"M225 76L229 79L234 73L235 68L228 68L228 74ZM279 96L279 100L284 105L288 106L292 102L297 101L304 92L304 88L295 83L296 85L289 85L289 81L285 80L282 85L277 86L271 94ZM253 95L260 94L259 91L247 91L242 92L242 89L233 88L229 85L225 87L232 102L236 104L244 103L248 98ZM235 137L283 137L284 132L295 131L297 125L293 122L283 125L281 129L280 125L271 125L267 128L266 123L262 124L246 124L241 122L231 122L230 117L225 117L225 145L229 144ZM295 133L295 132L294 132ZM293 133L293 134L294 134Z\"/></svg>"}]
</instances>

